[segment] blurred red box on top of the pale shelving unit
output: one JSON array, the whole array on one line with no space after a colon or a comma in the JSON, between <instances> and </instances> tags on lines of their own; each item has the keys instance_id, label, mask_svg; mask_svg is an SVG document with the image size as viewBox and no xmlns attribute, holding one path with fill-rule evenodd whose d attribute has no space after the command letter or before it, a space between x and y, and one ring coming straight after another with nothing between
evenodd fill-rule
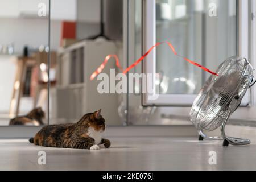
<instances>
[{"instance_id":1,"label":"blurred red box on top of the pale shelving unit","mask_svg":"<svg viewBox=\"0 0 256 182\"><path fill-rule=\"evenodd\" d=\"M64 21L61 23L61 46L63 43L63 39L76 39L76 22Z\"/></svg>"}]
</instances>

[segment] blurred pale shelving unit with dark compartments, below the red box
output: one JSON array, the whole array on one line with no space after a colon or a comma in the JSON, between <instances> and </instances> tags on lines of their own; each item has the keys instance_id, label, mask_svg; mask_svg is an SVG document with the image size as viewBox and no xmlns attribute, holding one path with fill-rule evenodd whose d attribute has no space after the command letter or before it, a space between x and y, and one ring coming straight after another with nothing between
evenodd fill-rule
<instances>
[{"instance_id":1,"label":"blurred pale shelving unit with dark compartments, below the red box","mask_svg":"<svg viewBox=\"0 0 256 182\"><path fill-rule=\"evenodd\" d=\"M98 109L102 109L107 125L120 120L118 94L100 94L97 77L90 81L90 75L105 57L114 53L117 47L106 40L85 40L58 52L57 86L51 91L53 123L76 122L82 115ZM109 77L110 68L115 68L113 60L102 71Z\"/></svg>"}]
</instances>

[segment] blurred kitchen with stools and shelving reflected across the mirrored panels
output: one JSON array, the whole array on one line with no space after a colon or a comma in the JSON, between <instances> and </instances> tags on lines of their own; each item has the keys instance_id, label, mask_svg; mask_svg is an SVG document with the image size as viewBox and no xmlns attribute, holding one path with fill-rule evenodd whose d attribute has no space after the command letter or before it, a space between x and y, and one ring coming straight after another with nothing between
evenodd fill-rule
<instances>
[{"instance_id":1,"label":"blurred kitchen with stools and shelving reflected across the mirrored panels","mask_svg":"<svg viewBox=\"0 0 256 182\"><path fill-rule=\"evenodd\" d=\"M39 16L42 3L45 16ZM49 78L48 1L1 0L0 5L0 125L35 107L48 114L48 80L51 123L76 122L85 113L102 109L108 124L122 125L118 95L98 94L97 81L89 81L109 53L122 61L122 1L51 1ZM110 68L113 61L104 72Z\"/></svg>"}]
</instances>

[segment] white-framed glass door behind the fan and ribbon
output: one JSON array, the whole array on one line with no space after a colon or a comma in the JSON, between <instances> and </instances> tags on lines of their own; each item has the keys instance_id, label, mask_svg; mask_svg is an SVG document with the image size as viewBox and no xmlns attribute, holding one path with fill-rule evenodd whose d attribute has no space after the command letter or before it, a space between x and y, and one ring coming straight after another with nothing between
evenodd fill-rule
<instances>
[{"instance_id":1,"label":"white-framed glass door behind the fan and ribbon","mask_svg":"<svg viewBox=\"0 0 256 182\"><path fill-rule=\"evenodd\" d=\"M248 56L248 5L237 0L143 1L143 52L157 42L170 42L178 55L215 71L234 55ZM245 13L243 13L245 12ZM242 20L242 21L241 21ZM153 85L157 99L143 94L143 105L189 106L210 73L185 61L161 44L146 57L143 72L158 75ZM242 101L247 105L249 95Z\"/></svg>"}]
</instances>

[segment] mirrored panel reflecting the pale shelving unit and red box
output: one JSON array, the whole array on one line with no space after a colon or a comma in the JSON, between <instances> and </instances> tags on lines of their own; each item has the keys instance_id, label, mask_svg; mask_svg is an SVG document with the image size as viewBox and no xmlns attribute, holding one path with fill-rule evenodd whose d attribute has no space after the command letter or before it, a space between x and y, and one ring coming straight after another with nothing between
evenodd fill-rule
<instances>
[{"instance_id":1,"label":"mirrored panel reflecting the pale shelving unit and red box","mask_svg":"<svg viewBox=\"0 0 256 182\"><path fill-rule=\"evenodd\" d=\"M123 61L123 1L69 0L51 3L51 52L55 53L55 82L51 84L50 123L75 123L101 109L106 125L122 125L126 105L122 94L110 93L110 76L120 70L109 59L104 70L109 89L101 93L100 80L90 79L105 57ZM54 62L54 63L53 63ZM115 82L115 80L113 81Z\"/></svg>"}]
</instances>

